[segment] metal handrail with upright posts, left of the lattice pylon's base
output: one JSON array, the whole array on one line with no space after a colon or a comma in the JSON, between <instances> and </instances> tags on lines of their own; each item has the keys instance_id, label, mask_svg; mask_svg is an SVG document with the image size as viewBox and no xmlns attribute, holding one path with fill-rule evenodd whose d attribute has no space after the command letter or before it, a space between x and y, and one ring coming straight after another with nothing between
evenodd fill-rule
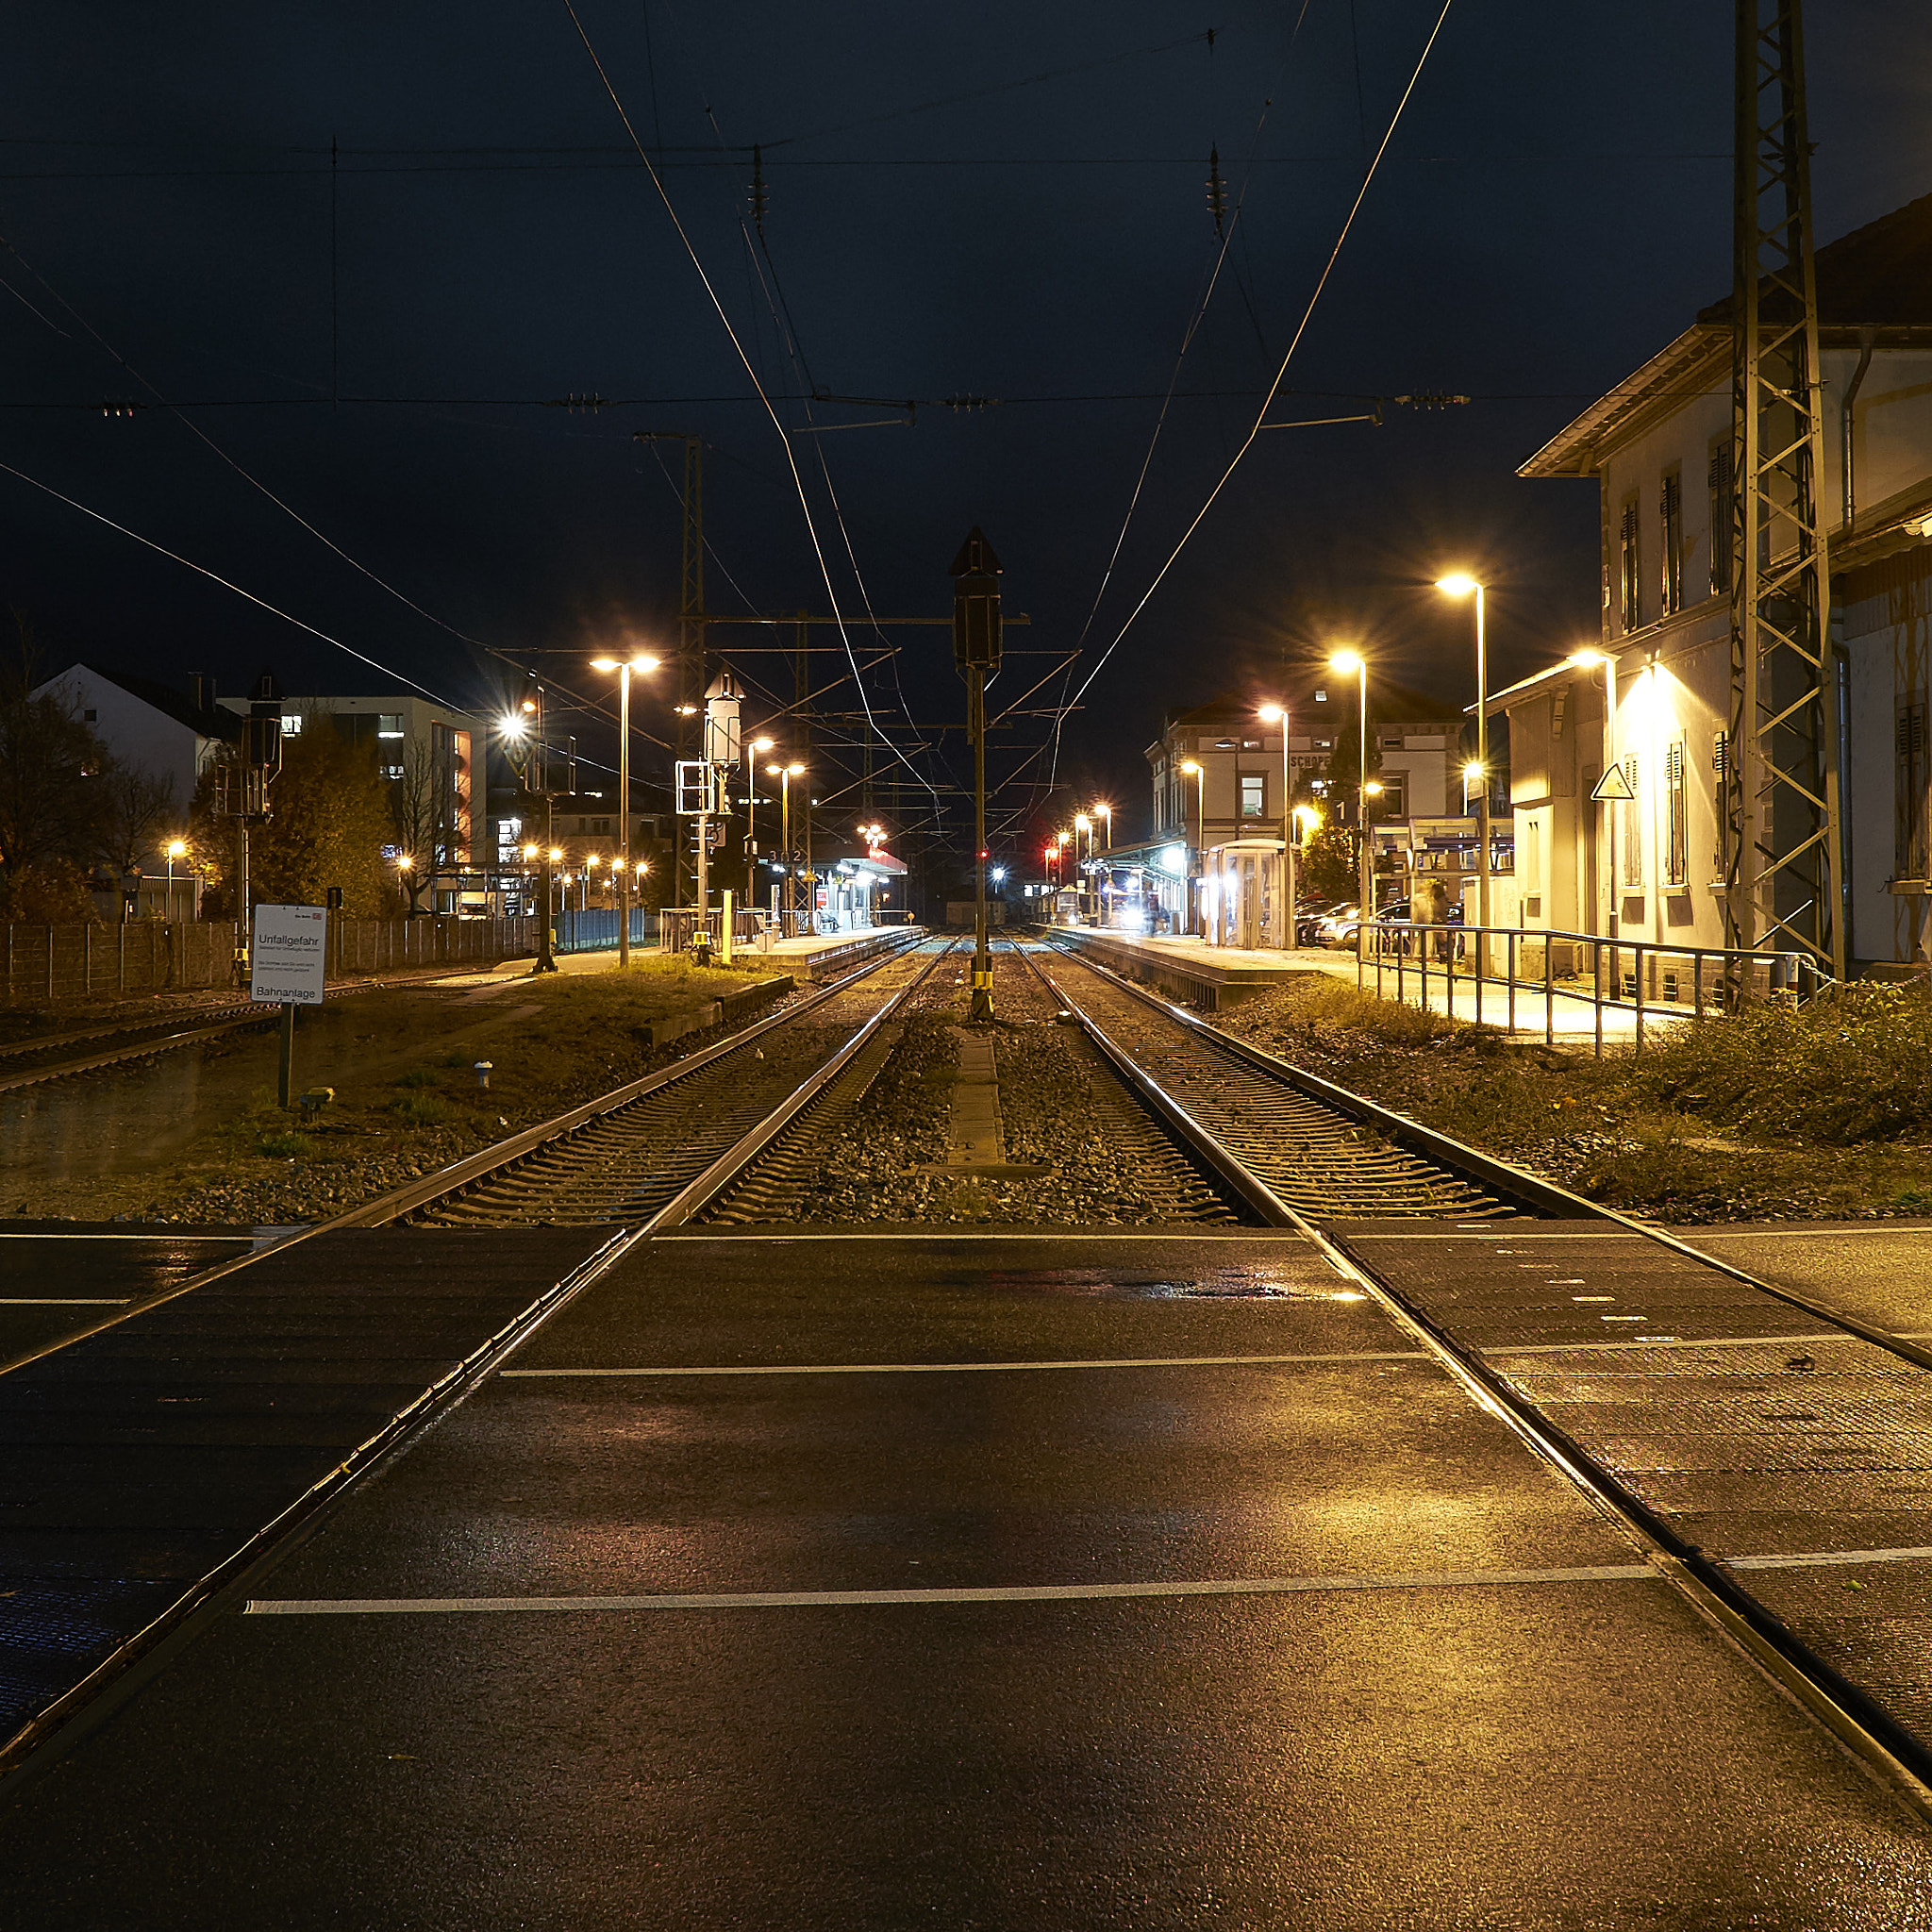
<instances>
[{"instance_id":1,"label":"metal handrail with upright posts, left of the lattice pylon's base","mask_svg":"<svg viewBox=\"0 0 1932 1932\"><path fill-rule=\"evenodd\" d=\"M1410 943L1414 935L1430 933L1443 935L1443 941L1430 941L1414 952L1410 952ZM1457 974L1457 960L1464 958L1468 952L1466 941L1474 939L1478 952L1478 968L1486 968L1490 958L1495 954L1495 941L1503 941L1507 952L1505 970L1501 980L1488 970L1463 972ZM1540 943L1544 949L1544 970L1540 978L1524 980L1519 974L1520 949L1524 943ZM1588 947L1590 949L1590 989L1580 991L1578 987L1559 985L1555 978L1555 947ZM1617 933L1573 933L1563 927L1534 927L1534 925L1461 925L1443 922L1401 922L1379 925L1374 920L1364 920L1360 925L1356 941L1356 985L1366 987L1368 983L1368 962L1376 964L1376 997L1381 999L1383 993L1383 974L1389 970L1387 960L1393 956L1395 970L1395 997L1406 999L1408 991L1405 985L1406 974L1414 972L1418 976L1418 997L1422 1010L1430 1010L1430 954L1435 954L1435 962L1443 980L1443 1010L1455 1012L1455 980L1470 980L1476 993L1476 1024L1482 1024L1482 991L1484 985L1501 985L1507 997L1507 1030L1517 1032L1517 993L1524 987L1542 993L1544 997L1544 1043L1555 1045L1555 1003L1559 999L1586 1001L1596 1010L1596 1057L1604 1057L1604 1014L1607 1012L1631 1012L1634 1016L1634 1043L1636 1051L1644 1051L1644 1014L1646 1010L1658 1018L1696 1018L1702 1020L1706 1012L1706 985L1710 985L1716 995L1716 1007L1719 1012L1735 1010L1752 993L1793 993L1799 1001L1814 999L1828 985L1837 981L1828 974L1816 960L1804 952L1791 952L1777 947L1698 947L1698 945L1671 945L1669 941L1658 939L1625 939ZM1609 991L1604 989L1605 981L1605 954L1609 968ZM1625 974L1623 956L1629 954L1633 970ZM1690 1001L1650 995L1646 999L1644 987L1652 976L1663 980L1662 960L1689 960L1690 962ZM1716 964L1712 964L1716 962ZM1573 976L1578 978L1578 976ZM1625 995L1623 987L1629 983L1631 993ZM1677 1010L1689 1007L1689 1012ZM1662 1010L1660 1010L1662 1009Z\"/></svg>"}]
</instances>

